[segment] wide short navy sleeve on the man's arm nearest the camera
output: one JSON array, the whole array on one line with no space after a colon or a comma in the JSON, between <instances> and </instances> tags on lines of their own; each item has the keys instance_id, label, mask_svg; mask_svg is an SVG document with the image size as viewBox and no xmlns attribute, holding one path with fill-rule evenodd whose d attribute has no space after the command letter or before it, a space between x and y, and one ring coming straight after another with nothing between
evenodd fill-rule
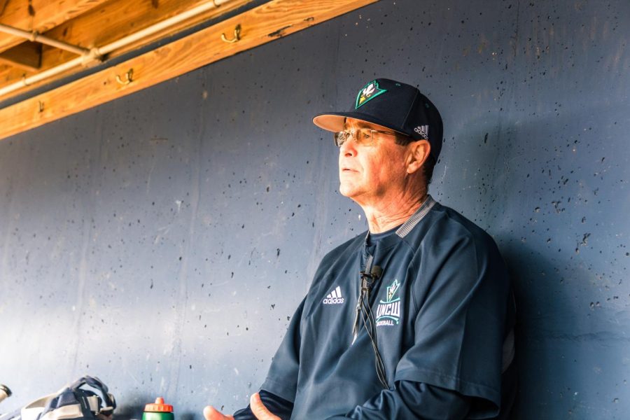
<instances>
[{"instance_id":1,"label":"wide short navy sleeve on the man's arm nearest the camera","mask_svg":"<svg viewBox=\"0 0 630 420\"><path fill-rule=\"evenodd\" d=\"M471 416L496 416L510 302L507 270L489 237L454 228L439 233L440 240L423 246L415 267L424 286L414 293L414 343L398 361L394 381L456 391L472 398Z\"/></svg>"}]
</instances>

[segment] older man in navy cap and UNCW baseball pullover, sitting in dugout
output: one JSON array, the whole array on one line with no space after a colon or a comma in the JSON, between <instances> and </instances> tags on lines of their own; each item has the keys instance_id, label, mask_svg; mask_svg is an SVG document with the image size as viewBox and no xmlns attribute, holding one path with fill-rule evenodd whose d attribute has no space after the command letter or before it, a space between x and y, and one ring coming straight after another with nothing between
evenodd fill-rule
<instances>
[{"instance_id":1,"label":"older man in navy cap and UNCW baseball pullover, sitting in dugout","mask_svg":"<svg viewBox=\"0 0 630 420\"><path fill-rule=\"evenodd\" d=\"M260 393L236 419L503 419L514 307L496 244L428 195L442 118L377 79L318 127L369 230L326 255ZM225 419L212 407L207 420Z\"/></svg>"}]
</instances>

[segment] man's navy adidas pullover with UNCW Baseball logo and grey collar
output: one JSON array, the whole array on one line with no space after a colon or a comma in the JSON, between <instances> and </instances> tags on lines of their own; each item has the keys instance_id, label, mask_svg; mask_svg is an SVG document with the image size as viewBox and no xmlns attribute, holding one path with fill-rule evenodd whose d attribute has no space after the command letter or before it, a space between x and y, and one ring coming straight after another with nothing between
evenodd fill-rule
<instances>
[{"instance_id":1,"label":"man's navy adidas pullover with UNCW Baseball logo and grey collar","mask_svg":"<svg viewBox=\"0 0 630 420\"><path fill-rule=\"evenodd\" d=\"M500 416L514 391L505 389L514 384L505 377L513 373L514 307L491 237L428 197L394 235L371 247L366 239L323 258L274 356L265 396L292 403L292 419L435 418L444 402L456 414L439 418ZM368 329L353 337L359 273L375 265L382 272L369 304L387 388Z\"/></svg>"}]
</instances>

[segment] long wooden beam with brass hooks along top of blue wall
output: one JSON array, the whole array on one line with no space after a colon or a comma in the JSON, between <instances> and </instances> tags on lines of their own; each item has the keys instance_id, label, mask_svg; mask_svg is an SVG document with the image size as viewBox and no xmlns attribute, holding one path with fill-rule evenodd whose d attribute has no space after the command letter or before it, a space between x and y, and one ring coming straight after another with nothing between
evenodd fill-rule
<instances>
[{"instance_id":1,"label":"long wooden beam with brass hooks along top of blue wall","mask_svg":"<svg viewBox=\"0 0 630 420\"><path fill-rule=\"evenodd\" d=\"M272 0L161 48L0 110L0 139L137 92L377 0ZM236 43L221 41L241 27ZM203 45L203 48L200 48ZM133 71L132 81L126 80Z\"/></svg>"}]
</instances>

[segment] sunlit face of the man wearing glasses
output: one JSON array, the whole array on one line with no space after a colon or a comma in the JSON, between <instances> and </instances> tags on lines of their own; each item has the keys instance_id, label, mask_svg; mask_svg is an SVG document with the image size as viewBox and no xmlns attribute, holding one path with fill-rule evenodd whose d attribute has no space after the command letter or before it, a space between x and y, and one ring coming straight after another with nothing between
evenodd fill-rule
<instances>
[{"instance_id":1,"label":"sunlit face of the man wearing glasses","mask_svg":"<svg viewBox=\"0 0 630 420\"><path fill-rule=\"evenodd\" d=\"M393 133L392 130L348 119L345 130L360 128ZM358 204L393 200L405 186L407 146L395 143L391 134L372 133L373 144L349 139L339 147L339 192Z\"/></svg>"}]
</instances>

